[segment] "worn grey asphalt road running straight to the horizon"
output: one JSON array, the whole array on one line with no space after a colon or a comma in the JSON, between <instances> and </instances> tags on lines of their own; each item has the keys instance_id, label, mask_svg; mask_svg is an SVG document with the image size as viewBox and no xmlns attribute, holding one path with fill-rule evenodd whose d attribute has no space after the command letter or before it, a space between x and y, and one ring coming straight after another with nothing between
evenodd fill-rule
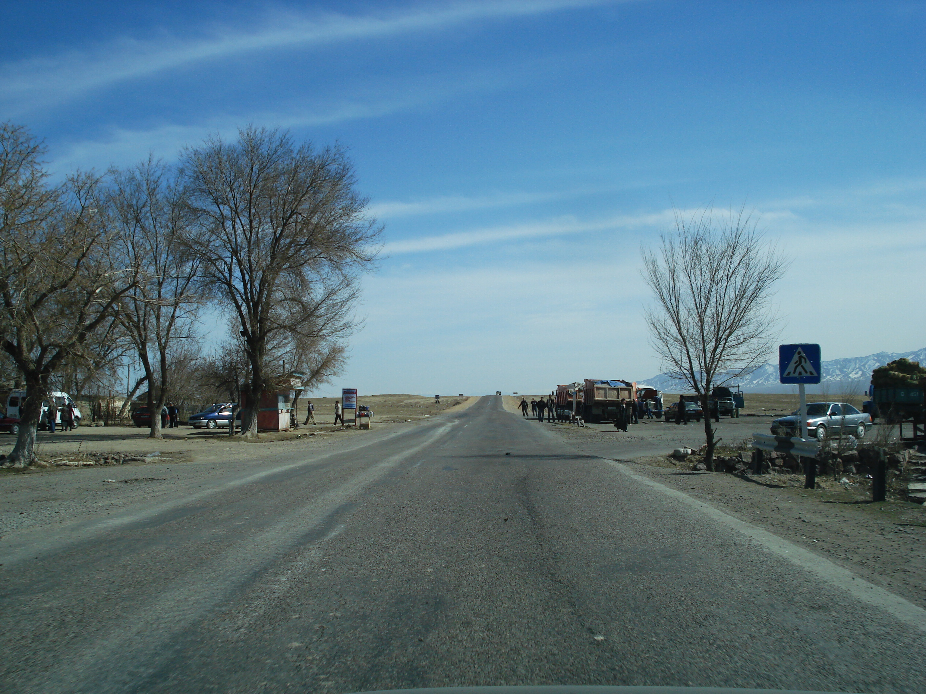
<instances>
[{"instance_id":1,"label":"worn grey asphalt road running straight to the horizon","mask_svg":"<svg viewBox=\"0 0 926 694\"><path fill-rule=\"evenodd\" d=\"M0 690L926 689L920 608L496 397L92 529L0 550Z\"/></svg>"}]
</instances>

